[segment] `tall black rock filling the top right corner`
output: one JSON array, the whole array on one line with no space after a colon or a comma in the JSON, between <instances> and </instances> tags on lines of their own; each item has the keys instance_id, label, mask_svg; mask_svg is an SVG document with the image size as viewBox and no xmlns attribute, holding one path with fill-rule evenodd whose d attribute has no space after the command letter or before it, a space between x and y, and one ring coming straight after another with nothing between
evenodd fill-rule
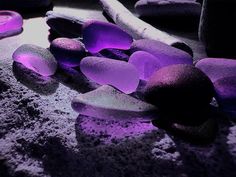
<instances>
[{"instance_id":1,"label":"tall black rock filling the top right corner","mask_svg":"<svg viewBox=\"0 0 236 177\"><path fill-rule=\"evenodd\" d=\"M209 57L236 58L236 1L205 0L199 38Z\"/></svg>"}]
</instances>

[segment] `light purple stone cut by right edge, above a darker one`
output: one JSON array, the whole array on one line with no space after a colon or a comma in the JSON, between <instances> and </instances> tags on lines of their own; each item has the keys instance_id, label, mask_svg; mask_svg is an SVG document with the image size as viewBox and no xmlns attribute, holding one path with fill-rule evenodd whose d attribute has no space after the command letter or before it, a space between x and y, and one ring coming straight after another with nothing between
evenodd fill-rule
<instances>
[{"instance_id":1,"label":"light purple stone cut by right edge, above a darker one","mask_svg":"<svg viewBox=\"0 0 236 177\"><path fill-rule=\"evenodd\" d=\"M197 62L196 67L201 69L212 82L230 76L236 76L236 60L223 58L204 58Z\"/></svg>"}]
</instances>

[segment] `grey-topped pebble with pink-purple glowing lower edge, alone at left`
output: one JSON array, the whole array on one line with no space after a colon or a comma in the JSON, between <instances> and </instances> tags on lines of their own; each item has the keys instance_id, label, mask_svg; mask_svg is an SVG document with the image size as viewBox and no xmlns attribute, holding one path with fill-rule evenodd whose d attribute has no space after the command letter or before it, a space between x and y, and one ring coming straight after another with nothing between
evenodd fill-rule
<instances>
[{"instance_id":1,"label":"grey-topped pebble with pink-purple glowing lower edge, alone at left","mask_svg":"<svg viewBox=\"0 0 236 177\"><path fill-rule=\"evenodd\" d=\"M32 44L20 46L12 58L42 76L51 76L57 69L57 61L51 52Z\"/></svg>"}]
</instances>

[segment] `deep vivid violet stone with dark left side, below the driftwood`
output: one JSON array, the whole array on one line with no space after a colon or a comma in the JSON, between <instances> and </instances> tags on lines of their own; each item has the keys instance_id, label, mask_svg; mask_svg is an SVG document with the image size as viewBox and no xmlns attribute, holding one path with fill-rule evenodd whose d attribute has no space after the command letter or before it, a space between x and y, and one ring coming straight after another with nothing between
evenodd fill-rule
<instances>
[{"instance_id":1,"label":"deep vivid violet stone with dark left side, below the driftwood","mask_svg":"<svg viewBox=\"0 0 236 177\"><path fill-rule=\"evenodd\" d=\"M133 42L132 37L118 26L101 21L88 21L83 25L83 42L91 53L102 49L129 49Z\"/></svg>"}]
</instances>

